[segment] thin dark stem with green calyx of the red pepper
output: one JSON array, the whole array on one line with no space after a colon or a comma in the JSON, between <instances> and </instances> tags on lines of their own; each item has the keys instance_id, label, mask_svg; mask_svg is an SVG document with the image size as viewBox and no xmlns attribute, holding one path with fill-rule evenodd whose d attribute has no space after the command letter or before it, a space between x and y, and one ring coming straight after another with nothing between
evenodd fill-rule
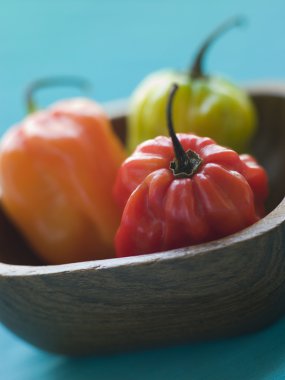
<instances>
[{"instance_id":1,"label":"thin dark stem with green calyx of the red pepper","mask_svg":"<svg viewBox=\"0 0 285 380\"><path fill-rule=\"evenodd\" d=\"M202 159L191 149L185 152L174 131L172 121L172 108L174 95L178 88L179 86L177 84L173 84L171 87L166 108L167 127L175 153L175 159L170 162L169 168L172 170L175 178L191 178L197 172L199 166L202 164Z\"/></svg>"}]
</instances>

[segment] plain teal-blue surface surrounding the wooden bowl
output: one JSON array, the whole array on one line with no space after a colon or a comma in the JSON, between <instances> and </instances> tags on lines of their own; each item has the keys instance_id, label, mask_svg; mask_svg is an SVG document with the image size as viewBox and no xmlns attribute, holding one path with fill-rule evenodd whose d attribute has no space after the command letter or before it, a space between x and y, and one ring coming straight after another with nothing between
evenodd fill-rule
<instances>
[{"instance_id":1,"label":"plain teal-blue surface surrounding the wooden bowl","mask_svg":"<svg viewBox=\"0 0 285 380\"><path fill-rule=\"evenodd\" d=\"M215 44L207 71L284 80L284 0L0 0L0 133L24 116L30 81L82 75L98 101L125 98L148 73L187 67L207 33L235 14L248 25ZM53 89L38 101L71 95ZM0 326L0 379L281 380L285 319L226 341L81 359L41 352Z\"/></svg>"}]
</instances>

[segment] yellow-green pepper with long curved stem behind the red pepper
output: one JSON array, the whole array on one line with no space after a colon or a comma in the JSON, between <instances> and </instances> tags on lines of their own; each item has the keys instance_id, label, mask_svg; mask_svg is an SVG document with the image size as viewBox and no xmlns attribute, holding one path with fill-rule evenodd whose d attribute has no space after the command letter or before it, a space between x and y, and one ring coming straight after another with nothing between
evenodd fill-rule
<instances>
[{"instance_id":1,"label":"yellow-green pepper with long curved stem behind the red pepper","mask_svg":"<svg viewBox=\"0 0 285 380\"><path fill-rule=\"evenodd\" d=\"M150 138L167 135L165 107L172 83L180 85L174 105L177 132L213 138L238 152L247 151L256 130L255 109L249 96L230 81L204 74L205 53L215 39L240 19L219 27L203 44L189 72L161 70L147 76L130 101L128 149Z\"/></svg>"}]
</instances>

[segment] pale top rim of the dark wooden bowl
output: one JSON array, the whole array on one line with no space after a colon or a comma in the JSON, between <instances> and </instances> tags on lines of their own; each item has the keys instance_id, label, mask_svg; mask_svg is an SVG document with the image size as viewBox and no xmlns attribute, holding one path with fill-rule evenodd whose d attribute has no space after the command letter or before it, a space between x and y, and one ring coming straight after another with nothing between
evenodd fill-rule
<instances>
[{"instance_id":1,"label":"pale top rim of the dark wooden bowl","mask_svg":"<svg viewBox=\"0 0 285 380\"><path fill-rule=\"evenodd\" d=\"M285 97L285 82L257 82L243 86L251 95L271 95ZM119 100L106 103L110 117L118 117L126 114L128 102ZM78 272L87 270L106 270L111 268L141 266L155 263L157 261L170 261L177 258L189 258L196 255L214 253L221 248L227 248L237 243L244 243L247 240L259 237L261 234L268 233L278 227L285 221L285 197L282 201L264 218L255 224L224 238L214 240L208 243L184 247L175 250L169 250L159 253L152 253L140 256L111 258L104 260L83 261L70 264L57 265L15 265L0 262L0 279L1 277L14 276L36 276L60 274L68 272Z\"/></svg>"}]
</instances>

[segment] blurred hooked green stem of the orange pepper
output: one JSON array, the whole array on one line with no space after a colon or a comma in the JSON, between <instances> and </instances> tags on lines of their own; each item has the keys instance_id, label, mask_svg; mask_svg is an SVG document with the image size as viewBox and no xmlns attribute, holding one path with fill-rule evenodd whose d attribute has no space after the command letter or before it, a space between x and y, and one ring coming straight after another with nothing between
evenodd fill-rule
<instances>
[{"instance_id":1,"label":"blurred hooked green stem of the orange pepper","mask_svg":"<svg viewBox=\"0 0 285 380\"><path fill-rule=\"evenodd\" d=\"M33 113L38 109L35 101L35 93L43 88L52 86L72 86L77 87L84 92L89 92L91 88L90 82L80 77L59 76L38 79L32 82L25 92L25 104L28 114Z\"/></svg>"}]
</instances>

